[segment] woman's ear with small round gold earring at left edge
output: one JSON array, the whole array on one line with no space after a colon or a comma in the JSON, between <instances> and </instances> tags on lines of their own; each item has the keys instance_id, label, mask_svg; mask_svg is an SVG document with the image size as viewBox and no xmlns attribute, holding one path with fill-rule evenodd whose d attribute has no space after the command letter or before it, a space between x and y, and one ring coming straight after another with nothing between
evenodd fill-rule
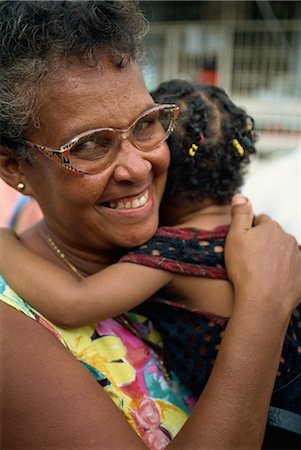
<instances>
[{"instance_id":1,"label":"woman's ear with small round gold earring at left edge","mask_svg":"<svg viewBox=\"0 0 301 450\"><path fill-rule=\"evenodd\" d=\"M9 186L22 194L33 194L31 186L22 170L22 163L12 151L2 144L0 145L0 177Z\"/></svg>"}]
</instances>

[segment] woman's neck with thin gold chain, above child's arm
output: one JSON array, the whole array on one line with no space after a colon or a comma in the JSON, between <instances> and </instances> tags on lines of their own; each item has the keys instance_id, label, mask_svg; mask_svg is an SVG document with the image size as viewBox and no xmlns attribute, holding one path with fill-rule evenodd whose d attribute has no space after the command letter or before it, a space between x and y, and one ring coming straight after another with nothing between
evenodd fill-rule
<instances>
[{"instance_id":1,"label":"woman's neck with thin gold chain, above child's arm","mask_svg":"<svg viewBox=\"0 0 301 450\"><path fill-rule=\"evenodd\" d=\"M120 249L91 251L77 247L60 239L43 220L22 233L20 238L24 245L43 258L65 269L69 262L82 275L91 275L104 269L117 262L123 254Z\"/></svg>"}]
</instances>

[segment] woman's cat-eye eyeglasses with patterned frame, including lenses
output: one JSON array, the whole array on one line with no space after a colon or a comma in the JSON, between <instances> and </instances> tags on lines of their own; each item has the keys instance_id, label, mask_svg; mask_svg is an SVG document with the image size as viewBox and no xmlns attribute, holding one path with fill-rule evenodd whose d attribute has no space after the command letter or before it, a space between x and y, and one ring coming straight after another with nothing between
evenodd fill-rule
<instances>
[{"instance_id":1,"label":"woman's cat-eye eyeglasses with patterned frame, including lenses","mask_svg":"<svg viewBox=\"0 0 301 450\"><path fill-rule=\"evenodd\" d=\"M172 133L178 115L179 107L176 105L155 105L138 116L128 128L85 131L58 150L29 141L23 142L65 169L93 174L104 170L114 161L122 140L128 139L143 152L154 150Z\"/></svg>"}]
</instances>

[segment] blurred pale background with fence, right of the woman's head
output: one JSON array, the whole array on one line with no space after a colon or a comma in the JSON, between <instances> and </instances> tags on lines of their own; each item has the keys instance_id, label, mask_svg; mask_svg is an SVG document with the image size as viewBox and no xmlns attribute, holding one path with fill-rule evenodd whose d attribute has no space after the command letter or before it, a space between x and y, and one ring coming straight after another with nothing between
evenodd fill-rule
<instances>
[{"instance_id":1,"label":"blurred pale background with fence, right of the woman's head","mask_svg":"<svg viewBox=\"0 0 301 450\"><path fill-rule=\"evenodd\" d=\"M244 193L301 242L301 1L140 1L149 89L169 78L223 87L255 118Z\"/></svg>"}]
</instances>

